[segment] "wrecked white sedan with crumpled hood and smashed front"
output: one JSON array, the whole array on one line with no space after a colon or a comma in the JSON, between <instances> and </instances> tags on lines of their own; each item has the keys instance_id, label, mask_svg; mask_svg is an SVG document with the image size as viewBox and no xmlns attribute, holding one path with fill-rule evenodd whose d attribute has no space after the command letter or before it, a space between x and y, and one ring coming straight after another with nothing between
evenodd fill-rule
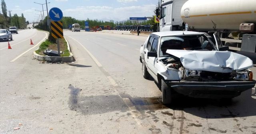
<instances>
[{"instance_id":1,"label":"wrecked white sedan with crumpled hood and smashed front","mask_svg":"<svg viewBox=\"0 0 256 134\"><path fill-rule=\"evenodd\" d=\"M155 32L140 48L142 75L145 79L152 76L159 84L164 104L170 104L177 93L198 98L237 97L256 83L248 69L253 64L248 57L227 49L204 33Z\"/></svg>"}]
</instances>

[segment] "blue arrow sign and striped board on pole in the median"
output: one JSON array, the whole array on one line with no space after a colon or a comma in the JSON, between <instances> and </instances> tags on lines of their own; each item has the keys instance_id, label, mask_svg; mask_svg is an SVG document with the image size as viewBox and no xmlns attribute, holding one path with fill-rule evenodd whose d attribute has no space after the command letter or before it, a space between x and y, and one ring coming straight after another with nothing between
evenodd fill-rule
<instances>
[{"instance_id":1,"label":"blue arrow sign and striped board on pole in the median","mask_svg":"<svg viewBox=\"0 0 256 134\"><path fill-rule=\"evenodd\" d=\"M63 24L60 20L63 17L63 13L59 8L51 8L49 11L49 16L53 20L51 22L51 30L52 30L52 37L57 39L58 44L58 55L60 56L60 43L59 39L63 39Z\"/></svg>"}]
</instances>

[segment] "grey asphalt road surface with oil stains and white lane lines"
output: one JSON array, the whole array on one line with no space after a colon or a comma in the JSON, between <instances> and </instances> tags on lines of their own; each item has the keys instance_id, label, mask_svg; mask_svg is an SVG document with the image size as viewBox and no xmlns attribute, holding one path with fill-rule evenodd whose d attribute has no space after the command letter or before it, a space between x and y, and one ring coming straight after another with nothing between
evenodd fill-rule
<instances>
[{"instance_id":1,"label":"grey asphalt road surface with oil stains and white lane lines","mask_svg":"<svg viewBox=\"0 0 256 134\"><path fill-rule=\"evenodd\" d=\"M146 36L64 31L76 59L64 64L32 57L30 38L45 36L22 30L12 49L0 42L1 134L256 134L252 90L232 102L181 97L164 106L142 77Z\"/></svg>"}]
</instances>

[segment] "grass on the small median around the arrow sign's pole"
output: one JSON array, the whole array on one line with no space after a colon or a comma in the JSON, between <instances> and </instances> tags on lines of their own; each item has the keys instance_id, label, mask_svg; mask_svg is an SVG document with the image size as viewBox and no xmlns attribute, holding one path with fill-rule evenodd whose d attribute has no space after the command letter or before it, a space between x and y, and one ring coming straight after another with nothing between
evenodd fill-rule
<instances>
[{"instance_id":1,"label":"grass on the small median around the arrow sign's pole","mask_svg":"<svg viewBox=\"0 0 256 134\"><path fill-rule=\"evenodd\" d=\"M60 51L62 51L63 53L60 54L61 57L67 57L70 56L70 51L68 50L68 45L65 39L59 39L59 43L60 43ZM51 41L49 41L48 39L46 41L44 41L43 43L41 43L41 45L39 46L39 49L36 50L36 53L39 55L44 55L43 53L45 49L51 49L51 50L55 50L58 51L58 46L57 43L53 43Z\"/></svg>"}]
</instances>

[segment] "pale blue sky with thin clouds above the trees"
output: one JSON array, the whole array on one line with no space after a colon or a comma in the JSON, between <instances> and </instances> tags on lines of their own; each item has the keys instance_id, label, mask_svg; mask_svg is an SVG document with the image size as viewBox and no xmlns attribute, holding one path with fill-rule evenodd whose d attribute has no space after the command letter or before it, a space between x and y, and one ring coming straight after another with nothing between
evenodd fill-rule
<instances>
[{"instance_id":1,"label":"pale blue sky with thin clouds above the trees","mask_svg":"<svg viewBox=\"0 0 256 134\"><path fill-rule=\"evenodd\" d=\"M24 14L26 21L37 22L39 11L46 10L46 0L4 0L7 10L11 14L21 16ZM36 4L34 2L40 3ZM47 0L48 11L57 7L63 16L70 16L76 20L98 19L103 21L123 21L130 17L152 17L158 0ZM1 9L2 12L2 9ZM43 12L42 12L43 14ZM47 11L44 11L46 16ZM9 16L9 13L8 13Z\"/></svg>"}]
</instances>

